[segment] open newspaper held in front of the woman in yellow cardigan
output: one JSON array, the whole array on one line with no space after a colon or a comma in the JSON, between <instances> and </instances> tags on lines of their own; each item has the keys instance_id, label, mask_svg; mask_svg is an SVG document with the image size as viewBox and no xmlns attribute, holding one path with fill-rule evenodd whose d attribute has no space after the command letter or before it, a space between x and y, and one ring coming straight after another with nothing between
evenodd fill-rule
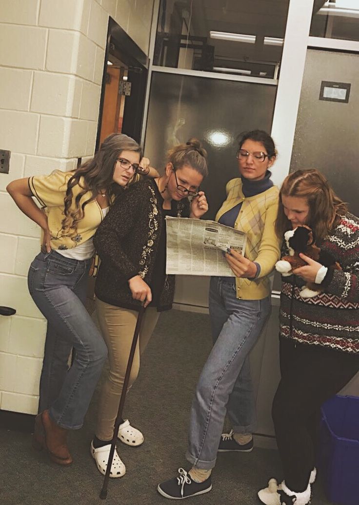
<instances>
[{"instance_id":1,"label":"open newspaper held in front of the woman in yellow cardigan","mask_svg":"<svg viewBox=\"0 0 359 505\"><path fill-rule=\"evenodd\" d=\"M244 255L247 234L216 221L166 217L166 273L233 277L227 247Z\"/></svg>"}]
</instances>

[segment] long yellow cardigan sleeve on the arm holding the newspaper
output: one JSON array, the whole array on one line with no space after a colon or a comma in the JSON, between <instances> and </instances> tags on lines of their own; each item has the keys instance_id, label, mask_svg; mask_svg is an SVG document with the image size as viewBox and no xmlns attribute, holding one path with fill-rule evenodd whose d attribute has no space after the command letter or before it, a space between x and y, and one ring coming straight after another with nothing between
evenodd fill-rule
<instances>
[{"instance_id":1,"label":"long yellow cardigan sleeve on the arm holding the newspaper","mask_svg":"<svg viewBox=\"0 0 359 505\"><path fill-rule=\"evenodd\" d=\"M261 267L258 278L269 275L280 258L280 240L277 238L274 229L277 212L278 198L275 198L266 210L261 245L259 247L258 256L254 260L256 263L259 263Z\"/></svg>"}]
</instances>

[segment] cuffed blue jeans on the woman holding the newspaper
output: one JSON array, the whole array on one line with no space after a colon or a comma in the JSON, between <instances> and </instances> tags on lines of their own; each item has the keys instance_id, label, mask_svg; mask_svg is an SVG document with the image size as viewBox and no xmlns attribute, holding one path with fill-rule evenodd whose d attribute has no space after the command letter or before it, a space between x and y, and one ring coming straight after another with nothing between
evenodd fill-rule
<instances>
[{"instance_id":1,"label":"cuffed blue jeans on the woman holding the newspaper","mask_svg":"<svg viewBox=\"0 0 359 505\"><path fill-rule=\"evenodd\" d=\"M201 372L192 402L187 460L214 467L226 412L237 433L256 428L249 352L270 313L270 297L236 298L233 278L212 277L209 313L214 345Z\"/></svg>"}]
</instances>

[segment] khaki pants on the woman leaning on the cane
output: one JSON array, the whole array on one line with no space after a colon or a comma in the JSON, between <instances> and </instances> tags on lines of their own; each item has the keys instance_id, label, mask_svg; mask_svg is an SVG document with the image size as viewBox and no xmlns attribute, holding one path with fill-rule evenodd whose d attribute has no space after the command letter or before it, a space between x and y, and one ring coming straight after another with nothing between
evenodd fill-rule
<instances>
[{"instance_id":1,"label":"khaki pants on the woman leaning on the cane","mask_svg":"<svg viewBox=\"0 0 359 505\"><path fill-rule=\"evenodd\" d=\"M96 310L102 336L108 348L109 361L109 374L102 386L98 405L96 436L100 440L110 440L113 436L114 421L117 416L138 312L106 304L97 298ZM152 335L158 317L157 309L152 307L146 309L136 346L129 388L137 378L140 356Z\"/></svg>"}]
</instances>

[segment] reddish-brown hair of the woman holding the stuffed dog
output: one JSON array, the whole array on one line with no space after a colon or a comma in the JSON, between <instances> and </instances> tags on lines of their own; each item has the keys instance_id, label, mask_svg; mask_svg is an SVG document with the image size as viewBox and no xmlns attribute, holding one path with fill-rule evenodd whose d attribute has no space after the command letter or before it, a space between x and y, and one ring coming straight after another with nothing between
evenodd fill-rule
<instances>
[{"instance_id":1,"label":"reddish-brown hair of the woman holding the stuffed dog","mask_svg":"<svg viewBox=\"0 0 359 505\"><path fill-rule=\"evenodd\" d=\"M297 170L287 175L279 192L279 208L275 222L278 237L291 229L291 223L284 214L283 196L306 198L309 206L308 225L316 239L323 239L339 223L340 216L347 212L347 205L329 186L326 178L318 170Z\"/></svg>"}]
</instances>

